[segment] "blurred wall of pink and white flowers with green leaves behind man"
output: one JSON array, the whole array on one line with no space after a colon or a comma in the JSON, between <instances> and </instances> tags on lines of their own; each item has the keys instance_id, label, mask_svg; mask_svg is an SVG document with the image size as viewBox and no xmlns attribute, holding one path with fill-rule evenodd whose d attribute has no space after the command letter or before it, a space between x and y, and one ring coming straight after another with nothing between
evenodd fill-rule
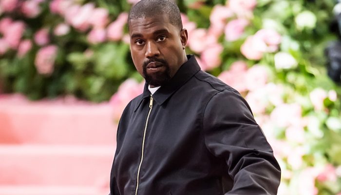
<instances>
[{"instance_id":1,"label":"blurred wall of pink and white flowers with green leaves behind man","mask_svg":"<svg viewBox=\"0 0 341 195\"><path fill-rule=\"evenodd\" d=\"M143 79L129 53L138 0L1 0L0 93L110 101L117 123ZM282 168L279 195L341 195L341 85L325 48L337 0L178 0L187 53L250 104ZM341 21L340 21L341 27Z\"/></svg>"}]
</instances>

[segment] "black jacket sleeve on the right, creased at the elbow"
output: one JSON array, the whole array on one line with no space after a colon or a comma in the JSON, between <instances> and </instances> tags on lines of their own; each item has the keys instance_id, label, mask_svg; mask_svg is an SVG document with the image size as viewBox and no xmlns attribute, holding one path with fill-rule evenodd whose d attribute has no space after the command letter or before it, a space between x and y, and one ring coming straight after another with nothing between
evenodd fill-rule
<instances>
[{"instance_id":1,"label":"black jacket sleeve on the right, creased at the elbow","mask_svg":"<svg viewBox=\"0 0 341 195\"><path fill-rule=\"evenodd\" d=\"M225 159L233 187L225 195L276 195L281 170L245 99L234 90L213 96L203 117L205 144Z\"/></svg>"}]
</instances>

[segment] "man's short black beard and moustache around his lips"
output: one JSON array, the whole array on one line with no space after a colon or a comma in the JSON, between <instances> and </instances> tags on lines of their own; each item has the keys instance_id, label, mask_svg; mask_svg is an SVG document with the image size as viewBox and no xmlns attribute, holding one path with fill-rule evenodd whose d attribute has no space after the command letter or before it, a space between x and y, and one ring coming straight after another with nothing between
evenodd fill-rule
<instances>
[{"instance_id":1,"label":"man's short black beard and moustache around his lips","mask_svg":"<svg viewBox=\"0 0 341 195\"><path fill-rule=\"evenodd\" d=\"M147 73L147 65L150 62L158 62L158 63L162 64L162 66L165 67L165 70L148 74ZM149 85L152 85L155 87L164 85L171 78L170 77L170 66L167 63L167 61L164 59L155 59L155 58L148 59L147 61L143 62L143 77L146 79L146 82Z\"/></svg>"}]
</instances>

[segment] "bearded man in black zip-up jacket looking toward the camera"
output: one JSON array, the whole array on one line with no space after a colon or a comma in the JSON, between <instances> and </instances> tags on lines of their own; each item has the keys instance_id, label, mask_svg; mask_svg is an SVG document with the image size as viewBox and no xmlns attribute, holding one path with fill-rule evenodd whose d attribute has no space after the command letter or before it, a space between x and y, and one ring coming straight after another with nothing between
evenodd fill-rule
<instances>
[{"instance_id":1,"label":"bearded man in black zip-up jacket looking toward the camera","mask_svg":"<svg viewBox=\"0 0 341 195\"><path fill-rule=\"evenodd\" d=\"M241 95L186 56L178 7L141 0L128 27L146 85L118 125L111 195L276 195L271 147Z\"/></svg>"}]
</instances>

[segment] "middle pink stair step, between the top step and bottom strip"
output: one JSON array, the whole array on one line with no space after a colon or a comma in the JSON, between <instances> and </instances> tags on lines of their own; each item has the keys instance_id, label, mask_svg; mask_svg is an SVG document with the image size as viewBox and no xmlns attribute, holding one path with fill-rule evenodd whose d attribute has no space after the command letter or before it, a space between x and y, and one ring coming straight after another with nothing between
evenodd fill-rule
<instances>
[{"instance_id":1,"label":"middle pink stair step, between the top step and bottom strip","mask_svg":"<svg viewBox=\"0 0 341 195\"><path fill-rule=\"evenodd\" d=\"M0 145L0 184L106 186L114 152L114 146Z\"/></svg>"}]
</instances>

